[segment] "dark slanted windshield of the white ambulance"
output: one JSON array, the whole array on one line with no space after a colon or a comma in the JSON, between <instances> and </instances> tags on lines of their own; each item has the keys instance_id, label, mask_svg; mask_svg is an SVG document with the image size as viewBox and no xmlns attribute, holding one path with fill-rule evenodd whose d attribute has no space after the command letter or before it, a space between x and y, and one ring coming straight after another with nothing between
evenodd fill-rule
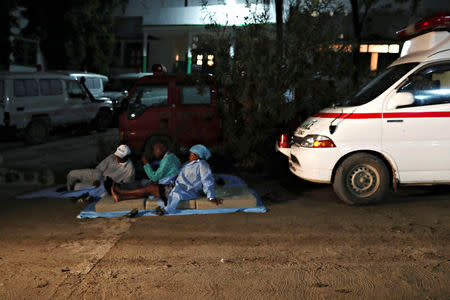
<instances>
[{"instance_id":1,"label":"dark slanted windshield of the white ambulance","mask_svg":"<svg viewBox=\"0 0 450 300\"><path fill-rule=\"evenodd\" d=\"M372 101L417 65L418 63L409 63L387 68L353 97L344 100L342 106L358 106Z\"/></svg>"}]
</instances>

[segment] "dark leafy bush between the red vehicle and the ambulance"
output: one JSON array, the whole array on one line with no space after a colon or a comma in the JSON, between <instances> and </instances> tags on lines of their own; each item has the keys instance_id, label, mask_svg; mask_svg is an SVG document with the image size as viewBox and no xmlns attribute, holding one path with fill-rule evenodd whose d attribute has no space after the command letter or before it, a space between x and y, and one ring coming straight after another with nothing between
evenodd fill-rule
<instances>
[{"instance_id":1,"label":"dark leafy bush between the red vehicle and the ambulance","mask_svg":"<svg viewBox=\"0 0 450 300\"><path fill-rule=\"evenodd\" d=\"M285 55L267 11L252 12L244 26L208 25L197 51L214 53L225 136L241 166L267 162L289 122L332 103L334 81L348 61L344 48L331 47L340 42L341 10L333 0L293 2L283 30ZM293 101L287 91L295 91Z\"/></svg>"}]
</instances>

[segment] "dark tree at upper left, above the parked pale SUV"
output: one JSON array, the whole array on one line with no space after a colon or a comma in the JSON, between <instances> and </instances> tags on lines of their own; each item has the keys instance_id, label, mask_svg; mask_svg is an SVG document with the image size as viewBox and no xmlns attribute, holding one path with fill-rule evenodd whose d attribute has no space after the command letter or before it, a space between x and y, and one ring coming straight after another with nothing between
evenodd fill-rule
<instances>
[{"instance_id":1,"label":"dark tree at upper left, above the parked pale SUV","mask_svg":"<svg viewBox=\"0 0 450 300\"><path fill-rule=\"evenodd\" d=\"M114 54L114 9L128 0L21 0L28 25L37 36L49 69L106 73Z\"/></svg>"}]
</instances>

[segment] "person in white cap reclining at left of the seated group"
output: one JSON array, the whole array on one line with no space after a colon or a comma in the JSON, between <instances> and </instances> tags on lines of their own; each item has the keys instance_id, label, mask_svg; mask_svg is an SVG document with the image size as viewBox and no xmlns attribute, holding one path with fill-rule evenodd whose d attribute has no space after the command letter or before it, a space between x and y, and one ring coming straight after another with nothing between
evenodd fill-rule
<instances>
[{"instance_id":1,"label":"person in white cap reclining at left of the seated group","mask_svg":"<svg viewBox=\"0 0 450 300\"><path fill-rule=\"evenodd\" d=\"M76 183L92 184L99 187L107 178L118 183L133 182L135 169L130 155L130 148L127 145L120 145L113 154L107 156L95 169L70 171L67 174L67 190L72 191ZM106 188L106 190L108 189Z\"/></svg>"}]
</instances>

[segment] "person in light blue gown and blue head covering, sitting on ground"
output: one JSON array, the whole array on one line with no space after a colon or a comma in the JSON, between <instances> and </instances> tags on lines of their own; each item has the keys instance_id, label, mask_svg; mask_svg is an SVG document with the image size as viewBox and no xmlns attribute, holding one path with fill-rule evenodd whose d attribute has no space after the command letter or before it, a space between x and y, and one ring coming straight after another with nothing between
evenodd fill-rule
<instances>
[{"instance_id":1,"label":"person in light blue gown and blue head covering, sitting on ground","mask_svg":"<svg viewBox=\"0 0 450 300\"><path fill-rule=\"evenodd\" d=\"M171 185L151 184L141 189L122 190L114 185L111 189L114 201L122 201L147 197L152 195L164 201L165 207L158 208L158 214L176 210L181 200L196 199L203 191L208 200L222 204L223 200L216 198L214 193L214 177L206 160L211 156L208 148L195 145L189 149L189 162L187 162L175 181Z\"/></svg>"}]
</instances>

